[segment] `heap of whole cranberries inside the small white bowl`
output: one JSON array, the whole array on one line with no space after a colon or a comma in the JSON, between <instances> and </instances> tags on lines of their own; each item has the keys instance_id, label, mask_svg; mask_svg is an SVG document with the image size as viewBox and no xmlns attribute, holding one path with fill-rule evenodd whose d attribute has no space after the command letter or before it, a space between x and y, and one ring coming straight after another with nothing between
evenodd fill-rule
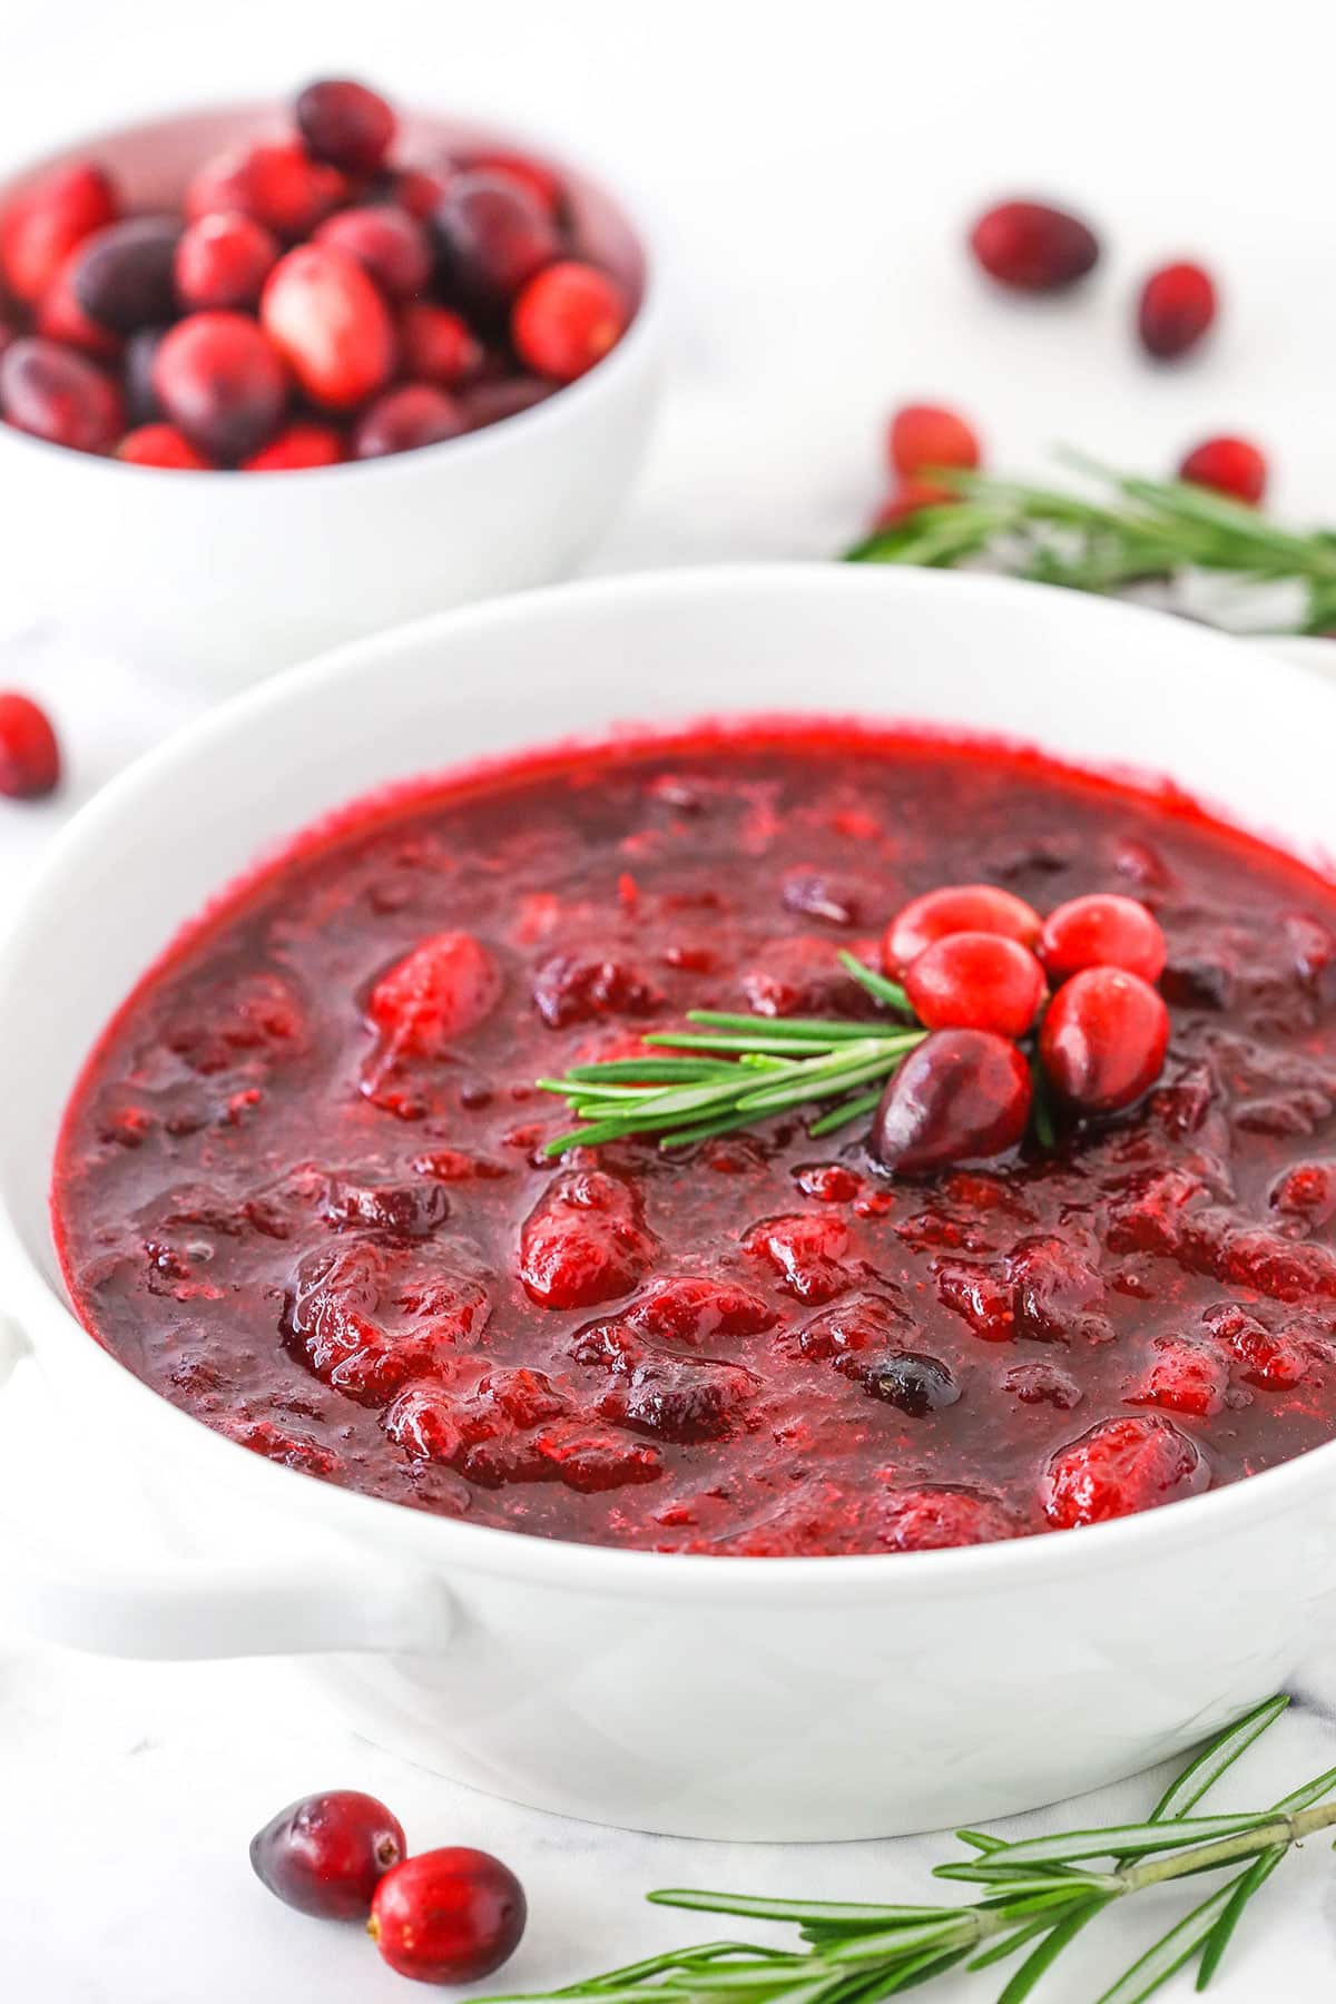
<instances>
[{"instance_id":1,"label":"heap of whole cranberries inside the small white bowl","mask_svg":"<svg viewBox=\"0 0 1336 2004\"><path fill-rule=\"evenodd\" d=\"M397 160L365 84L206 158L172 212L96 160L0 216L0 417L130 465L246 473L379 459L573 383L625 333L567 190L515 152Z\"/></svg>"}]
</instances>

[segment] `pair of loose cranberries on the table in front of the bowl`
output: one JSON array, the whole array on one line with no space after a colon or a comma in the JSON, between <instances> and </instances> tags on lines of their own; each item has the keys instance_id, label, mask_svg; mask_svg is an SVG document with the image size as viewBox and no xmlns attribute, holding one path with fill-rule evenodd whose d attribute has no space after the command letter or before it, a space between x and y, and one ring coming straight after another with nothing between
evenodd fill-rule
<instances>
[{"instance_id":1,"label":"pair of loose cranberries on the table in front of the bowl","mask_svg":"<svg viewBox=\"0 0 1336 2004\"><path fill-rule=\"evenodd\" d=\"M300 1914L365 1920L383 1958L423 1984L469 1984L507 1962L525 1932L525 1892L489 1852L409 1858L403 1826L375 1796L302 1796L250 1840L256 1878Z\"/></svg>"}]
</instances>

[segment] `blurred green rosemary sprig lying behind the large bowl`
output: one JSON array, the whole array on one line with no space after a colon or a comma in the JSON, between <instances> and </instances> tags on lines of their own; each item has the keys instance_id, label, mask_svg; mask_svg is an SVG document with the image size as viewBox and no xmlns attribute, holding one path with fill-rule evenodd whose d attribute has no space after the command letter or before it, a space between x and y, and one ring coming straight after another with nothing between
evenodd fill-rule
<instances>
[{"instance_id":1,"label":"blurred green rosemary sprig lying behind the large bowl","mask_svg":"<svg viewBox=\"0 0 1336 2004\"><path fill-rule=\"evenodd\" d=\"M1206 487L1064 457L1102 481L1110 499L945 471L931 479L959 499L915 509L855 543L845 561L951 569L987 557L1016 577L1102 593L1192 571L1230 573L1254 585L1296 585L1304 615L1288 631L1336 625L1336 531L1286 529Z\"/></svg>"}]
</instances>

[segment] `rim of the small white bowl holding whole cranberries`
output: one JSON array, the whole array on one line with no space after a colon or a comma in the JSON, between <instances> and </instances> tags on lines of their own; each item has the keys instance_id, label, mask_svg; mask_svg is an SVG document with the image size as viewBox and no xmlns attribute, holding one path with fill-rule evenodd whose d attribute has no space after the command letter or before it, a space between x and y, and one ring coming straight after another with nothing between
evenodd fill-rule
<instances>
[{"instance_id":1,"label":"rim of the small white bowl holding whole cranberries","mask_svg":"<svg viewBox=\"0 0 1336 2004\"><path fill-rule=\"evenodd\" d=\"M156 132L168 126L186 126L192 120L204 118L252 118L266 112L282 114L288 108L286 98L236 98L228 102L200 102L176 106L168 112L144 112L138 118L120 122L114 126L100 126L96 132L68 140L60 146L50 146L38 158L26 160L18 166L6 164L0 170L0 214L6 208L10 192L24 180L38 176L48 166L56 166L68 158L74 150L96 150L98 146L114 144L116 140L126 140L136 134ZM409 118L439 118L445 124L473 124L467 114L457 114L449 110L425 110L413 104L407 110ZM529 439L535 433L553 431L563 423L579 423L581 413L587 409L591 399L603 393L615 393L623 377L635 375L643 361L653 357L657 343L663 335L663 259L655 238L655 232L647 226L641 206L635 200L627 200L617 186L607 178L599 166L587 166L581 156L567 152L565 144L557 142L549 146L547 134L527 134L519 136L505 124L493 126L491 118L477 120L479 128L495 138L499 148L515 152L533 152L545 164L555 166L559 172L573 174L577 180L587 182L601 200L615 210L619 220L625 224L631 240L641 259L641 297L631 315L621 339L601 355L593 369L587 369L583 377L573 383L559 383L553 391L539 403L529 405L525 411L513 411L509 417L501 417L491 425L481 425L477 431L463 431L457 439L441 439L437 445L419 445L409 453L385 453L379 459L341 459L332 467L286 467L284 477L304 475L306 483L300 491L316 491L316 483L326 483L339 475L359 473L365 479L387 479L407 475L409 465L413 469L427 469L441 463L441 455L449 453L451 463L471 463L483 459L499 449L497 435L503 435L501 449L505 441ZM20 337L32 339L32 337ZM96 365L96 357L94 357ZM393 389L397 385L387 385ZM335 413L339 415L339 413ZM310 423L318 423L318 415ZM138 427L132 427L138 429ZM68 445L56 445L52 439L38 439L30 431L20 431L18 425L0 423L0 451L16 449L30 451L44 457L48 463L70 463L84 471L96 469L96 479L106 479L108 475L136 473L150 475L154 481L172 481L172 493L180 491L176 475L180 467L140 467L132 461L118 459L114 453L80 453ZM206 491L210 495L210 505L216 505L216 497L226 487L234 487L236 473L240 467L202 467L190 469L192 489ZM246 489L240 489L246 493ZM286 485L280 489L286 493ZM254 501L254 495L252 495Z\"/></svg>"}]
</instances>

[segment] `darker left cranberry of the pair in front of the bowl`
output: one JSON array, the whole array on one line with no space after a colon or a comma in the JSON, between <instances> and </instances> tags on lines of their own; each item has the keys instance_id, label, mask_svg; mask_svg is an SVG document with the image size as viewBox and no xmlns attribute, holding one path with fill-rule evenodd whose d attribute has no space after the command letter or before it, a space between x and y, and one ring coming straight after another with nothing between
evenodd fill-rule
<instances>
[{"instance_id":1,"label":"darker left cranberry of the pair in front of the bowl","mask_svg":"<svg viewBox=\"0 0 1336 2004\"><path fill-rule=\"evenodd\" d=\"M343 1788L280 1810L250 1840L250 1864L300 1914L365 1920L377 1886L407 1850L403 1828L383 1802Z\"/></svg>"}]
</instances>

